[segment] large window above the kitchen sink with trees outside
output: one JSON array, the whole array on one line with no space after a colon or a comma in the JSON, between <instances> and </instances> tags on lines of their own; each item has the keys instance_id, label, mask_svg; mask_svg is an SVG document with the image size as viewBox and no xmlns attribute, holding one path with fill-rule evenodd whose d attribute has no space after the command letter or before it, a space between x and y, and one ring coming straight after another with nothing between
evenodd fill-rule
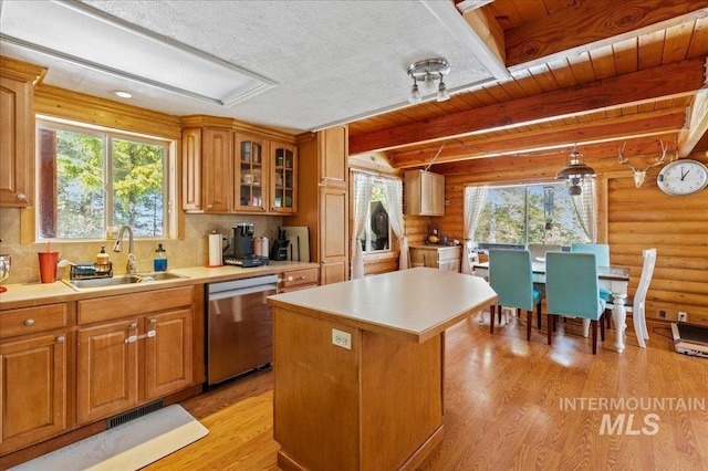
<instances>
[{"instance_id":1,"label":"large window above the kitchen sink with trees outside","mask_svg":"<svg viewBox=\"0 0 708 471\"><path fill-rule=\"evenodd\" d=\"M166 237L169 142L50 121L37 127L40 239L103 239L124 224L136 237Z\"/></svg>"}]
</instances>

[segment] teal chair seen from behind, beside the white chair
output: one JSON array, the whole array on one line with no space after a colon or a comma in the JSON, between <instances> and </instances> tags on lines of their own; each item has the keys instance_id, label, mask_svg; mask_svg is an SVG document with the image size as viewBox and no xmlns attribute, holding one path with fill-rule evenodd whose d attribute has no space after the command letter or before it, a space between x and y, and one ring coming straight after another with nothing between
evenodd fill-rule
<instances>
[{"instance_id":1,"label":"teal chair seen from behind, beside the white chair","mask_svg":"<svg viewBox=\"0 0 708 471\"><path fill-rule=\"evenodd\" d=\"M597 265L593 253L548 252L545 254L545 303L549 345L558 315L583 318L592 326L593 355L597 352L597 321L605 311L605 300L597 294ZM600 323L602 339L604 324Z\"/></svg>"}]
</instances>

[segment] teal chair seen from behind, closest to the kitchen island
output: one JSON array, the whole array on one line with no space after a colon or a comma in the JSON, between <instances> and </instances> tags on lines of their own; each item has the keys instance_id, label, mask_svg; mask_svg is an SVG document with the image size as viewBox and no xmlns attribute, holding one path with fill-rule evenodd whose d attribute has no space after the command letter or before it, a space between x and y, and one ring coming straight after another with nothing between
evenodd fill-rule
<instances>
[{"instance_id":1,"label":"teal chair seen from behind, closest to the kitchen island","mask_svg":"<svg viewBox=\"0 0 708 471\"><path fill-rule=\"evenodd\" d=\"M537 307L541 327L541 297L543 292L533 287L531 254L528 250L490 250L489 284L497 292L499 301L491 306L489 332L494 333L494 307L516 307L527 311L527 341L531 339L531 314Z\"/></svg>"}]
</instances>

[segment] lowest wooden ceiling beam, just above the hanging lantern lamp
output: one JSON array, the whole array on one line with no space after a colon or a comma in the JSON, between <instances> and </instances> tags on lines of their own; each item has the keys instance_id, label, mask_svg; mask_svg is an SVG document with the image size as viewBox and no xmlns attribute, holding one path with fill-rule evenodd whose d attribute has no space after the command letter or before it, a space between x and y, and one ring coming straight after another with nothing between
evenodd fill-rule
<instances>
[{"instance_id":1,"label":"lowest wooden ceiling beam, just above the hanging lantern lamp","mask_svg":"<svg viewBox=\"0 0 708 471\"><path fill-rule=\"evenodd\" d=\"M670 132L677 133L683 125L683 111L668 109L602 122L579 123L528 133L508 134L470 143L456 139L442 148L435 163L444 164L500 155L564 149L573 143L582 146L593 143L622 140L629 137L665 136ZM394 168L421 167L431 161L438 149L439 147L430 147L398 154L389 153L388 158Z\"/></svg>"}]
</instances>

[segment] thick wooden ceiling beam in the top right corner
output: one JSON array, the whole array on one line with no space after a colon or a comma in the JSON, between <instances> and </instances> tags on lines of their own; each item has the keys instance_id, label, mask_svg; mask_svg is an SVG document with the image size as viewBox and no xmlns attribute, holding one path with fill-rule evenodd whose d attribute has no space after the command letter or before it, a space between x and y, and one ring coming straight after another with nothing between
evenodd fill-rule
<instances>
[{"instance_id":1,"label":"thick wooden ceiling beam in the top right corner","mask_svg":"<svg viewBox=\"0 0 708 471\"><path fill-rule=\"evenodd\" d=\"M504 31L513 72L708 17L708 0L581 0Z\"/></svg>"}]
</instances>

